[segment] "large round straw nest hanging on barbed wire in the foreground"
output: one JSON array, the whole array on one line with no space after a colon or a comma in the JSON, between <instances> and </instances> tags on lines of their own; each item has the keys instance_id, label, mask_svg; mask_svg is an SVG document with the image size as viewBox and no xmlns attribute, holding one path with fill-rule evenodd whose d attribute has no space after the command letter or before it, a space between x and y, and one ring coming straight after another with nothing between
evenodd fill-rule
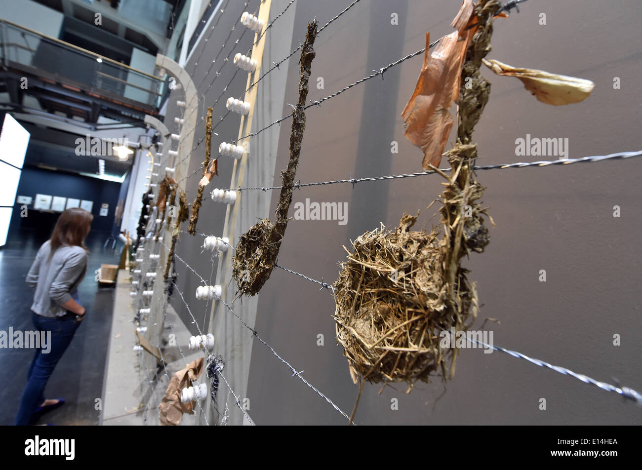
<instances>
[{"instance_id":1,"label":"large round straw nest hanging on barbed wire in the foreground","mask_svg":"<svg viewBox=\"0 0 642 470\"><path fill-rule=\"evenodd\" d=\"M401 382L454 374L456 349L440 347L440 331L466 329L476 318L477 297L463 268L447 288L447 253L437 229L412 232L417 217L399 227L365 232L352 244L334 283L337 342L354 383ZM449 292L452 292L449 293ZM456 297L456 299L453 298Z\"/></svg>"}]
</instances>

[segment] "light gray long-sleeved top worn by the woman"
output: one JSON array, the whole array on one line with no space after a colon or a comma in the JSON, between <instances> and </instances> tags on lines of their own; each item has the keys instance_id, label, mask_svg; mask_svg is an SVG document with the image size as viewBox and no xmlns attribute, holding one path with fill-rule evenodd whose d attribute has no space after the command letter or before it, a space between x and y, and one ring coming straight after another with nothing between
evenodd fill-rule
<instances>
[{"instance_id":1,"label":"light gray long-sleeved top worn by the woman","mask_svg":"<svg viewBox=\"0 0 642 470\"><path fill-rule=\"evenodd\" d=\"M51 259L51 241L42 244L27 274L26 283L35 287L31 310L43 317L62 317L67 310L60 304L71 299L87 272L87 252L82 247L64 245Z\"/></svg>"}]
</instances>

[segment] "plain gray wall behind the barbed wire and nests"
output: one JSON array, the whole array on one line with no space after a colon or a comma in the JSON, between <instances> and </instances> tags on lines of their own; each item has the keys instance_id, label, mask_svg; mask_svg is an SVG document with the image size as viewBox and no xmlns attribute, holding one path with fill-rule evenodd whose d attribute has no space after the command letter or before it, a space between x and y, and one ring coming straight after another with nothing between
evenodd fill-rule
<instances>
[{"instance_id":1,"label":"plain gray wall behind the barbed wire and nests","mask_svg":"<svg viewBox=\"0 0 642 470\"><path fill-rule=\"evenodd\" d=\"M258 4L254 3L250 2L250 12ZM313 17L325 24L348 3L299 0L293 4L291 44L281 57L304 39L306 24ZM308 98L322 98L370 74L372 69L417 51L424 46L426 31L430 31L432 39L451 32L449 23L459 6L459 0L438 3L371 0L357 4L317 39L312 83L322 76L325 89L312 86ZM239 9L240 5L229 8ZM271 17L280 10L273 8ZM492 92L474 133L480 152L478 163L548 159L515 155L515 140L526 134L568 138L571 158L639 150L642 92L637 85L637 72L642 65L638 47L641 4L629 0L618 2L617 8L605 8L603 2L596 0L533 0L520 10L519 14L513 12L510 19L496 21L489 57L515 66L587 78L595 83L595 89L582 103L552 107L536 101L514 78L483 71L492 83ZM390 24L393 12L399 14L398 26ZM228 14L226 10L227 22L221 20L220 35L214 33L198 65L194 62L200 51L187 64L196 85L204 80L205 71L229 33L232 19L239 13L240 10ZM546 13L546 26L538 24L540 13ZM278 24L267 34L279 34ZM237 28L232 39L240 33ZM246 34L237 50L247 51L251 42ZM204 47L203 43L198 47ZM227 51L226 48L221 58ZM264 58L264 66L279 58L270 57L269 62ZM281 66L281 71L288 67L282 83L285 90L282 102L275 103L269 101L269 96L259 95L267 101L257 106L265 107L269 102L270 107L277 107L277 116L291 112L287 103L297 100L298 58L295 55ZM421 64L422 57L415 57L387 71L384 80L377 77L321 107L309 109L297 178L314 182L347 178L349 173L353 177L374 177L421 171L422 152L404 138L400 117ZM217 69L215 66L213 70ZM212 89L207 90L212 74L200 87L200 92L205 93L203 115L234 70L230 64ZM612 87L614 76L621 78L619 90ZM245 89L245 80L247 75L239 73L225 96L238 96ZM225 112L224 103L221 98L214 109L214 122ZM173 112L169 110L166 123L173 121ZM218 126L216 132L220 137L213 137L213 146L222 140L236 139L238 122L238 118L229 118ZM258 125L255 121L254 130ZM203 127L196 132L196 140L202 137ZM289 156L289 134L290 121L262 134L271 136L268 141L272 143L278 137L275 186L281 184L280 171ZM399 153L390 153L391 141L399 143ZM190 172L202 162L203 145L198 152ZM221 158L221 176L209 190L227 187L231 163L227 157ZM478 172L478 180L488 188L483 202L490 207L497 227L490 230L486 252L474 254L464 262L471 270L469 279L478 282L482 303L475 328L481 326L485 317L498 318L501 324L485 326L494 330L496 345L596 379L612 382L616 378L623 385L642 389L638 366L642 353L638 340L642 334L640 164L633 159ZM250 168L251 165L250 161ZM447 162L442 162L442 167L447 167ZM189 181L189 200L195 196L197 179L194 176ZM363 182L354 189L344 184L296 191L294 202L304 202L305 198L315 202L347 202L348 223L293 220L281 247L279 264L315 279L323 277L328 283L334 282L338 261L345 259L342 245L378 227L379 222L394 227L404 211L416 213L421 209L421 223L417 226L428 223L429 227L429 219L438 206L428 211L426 207L440 193L441 182L440 177L430 176ZM272 197L271 209L268 212L263 207L258 209L256 203L256 217L273 216L277 191L260 194ZM620 218L612 216L614 205L621 207ZM245 205L243 210L251 211L252 207ZM220 234L224 211L223 205L205 202L198 232ZM437 221L435 218L432 222ZM188 237L183 236L177 254L205 277L211 272L211 261L200 255L197 243L185 243ZM198 279L180 263L177 268L178 285L188 294L186 298L193 299ZM546 283L538 280L542 269L547 273ZM227 300L231 301L233 292L232 286ZM200 322L209 309L195 300L192 302L198 306L192 311ZM173 301L187 320L190 317L180 303L180 299ZM235 306L239 303L237 300ZM305 370L302 376L349 414L358 387L352 384L342 349L334 340L333 313L334 301L326 290L320 292L315 284L275 270L259 295L256 329L293 367ZM317 346L320 333L325 337L324 346ZM614 334L621 335L619 347L612 344ZM245 342L251 341L247 335ZM236 392L250 398L248 412L257 424L345 424L341 415L299 379L292 378L290 370L263 345L256 343L252 348L249 370L247 391ZM228 378L234 373L228 370ZM410 394L405 393L403 384L394 387L379 393L380 386L366 385L356 421L363 424L639 424L641 421L639 409L632 403L623 403L615 394L505 354L483 354L478 349L462 351L455 379L446 383L445 388L438 379L417 384ZM546 398L546 411L539 410L541 397ZM399 410L391 410L392 398L399 400ZM240 414L238 409L231 413Z\"/></svg>"}]
</instances>

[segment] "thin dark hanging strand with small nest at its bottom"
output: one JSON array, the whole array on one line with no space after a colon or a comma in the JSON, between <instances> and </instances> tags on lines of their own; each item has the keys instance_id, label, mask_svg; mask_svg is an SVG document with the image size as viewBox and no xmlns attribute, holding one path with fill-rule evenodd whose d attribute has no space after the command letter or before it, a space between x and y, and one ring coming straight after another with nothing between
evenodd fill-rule
<instances>
[{"instance_id":1,"label":"thin dark hanging strand with small nest at its bottom","mask_svg":"<svg viewBox=\"0 0 642 470\"><path fill-rule=\"evenodd\" d=\"M239 292L244 295L256 295L263 287L263 284L270 278L288 225L288 210L292 202L294 178L299 164L303 133L306 129L304 108L308 97L308 80L312 60L315 58L313 45L316 37L317 21L315 20L308 24L306 42L301 46L299 102L292 113L290 161L288 161L288 168L281 173L283 183L281 194L279 195L279 204L277 204L275 211L276 223L273 224L268 219L261 220L239 238L234 250L232 275L234 275Z\"/></svg>"}]
</instances>

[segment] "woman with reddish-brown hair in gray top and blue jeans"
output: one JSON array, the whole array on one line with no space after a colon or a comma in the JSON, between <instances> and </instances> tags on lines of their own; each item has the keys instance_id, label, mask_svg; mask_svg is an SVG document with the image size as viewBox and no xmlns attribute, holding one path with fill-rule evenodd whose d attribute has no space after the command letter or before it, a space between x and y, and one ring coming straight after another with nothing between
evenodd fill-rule
<instances>
[{"instance_id":1,"label":"woman with reddish-brown hair in gray top and blue jeans","mask_svg":"<svg viewBox=\"0 0 642 470\"><path fill-rule=\"evenodd\" d=\"M60 214L51 239L42 244L26 277L35 287L31 317L40 337L51 332L48 351L36 349L27 386L22 393L16 425L31 424L40 413L65 403L64 399L44 399L44 388L76 329L85 318L76 289L87 272L87 248L83 241L94 216L73 207ZM45 335L45 336L43 336Z\"/></svg>"}]
</instances>

